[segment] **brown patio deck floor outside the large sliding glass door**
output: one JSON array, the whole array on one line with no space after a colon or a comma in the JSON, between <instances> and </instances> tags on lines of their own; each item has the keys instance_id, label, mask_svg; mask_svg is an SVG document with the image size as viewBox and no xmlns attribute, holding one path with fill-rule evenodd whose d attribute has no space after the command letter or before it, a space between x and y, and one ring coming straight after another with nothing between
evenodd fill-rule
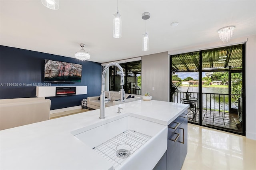
<instances>
[{"instance_id":1,"label":"brown patio deck floor outside the large sliding glass door","mask_svg":"<svg viewBox=\"0 0 256 170\"><path fill-rule=\"evenodd\" d=\"M188 109L188 122L199 124L199 109L197 109L197 114L194 118L193 112ZM202 125L242 133L238 114L234 113L202 110Z\"/></svg>"}]
</instances>

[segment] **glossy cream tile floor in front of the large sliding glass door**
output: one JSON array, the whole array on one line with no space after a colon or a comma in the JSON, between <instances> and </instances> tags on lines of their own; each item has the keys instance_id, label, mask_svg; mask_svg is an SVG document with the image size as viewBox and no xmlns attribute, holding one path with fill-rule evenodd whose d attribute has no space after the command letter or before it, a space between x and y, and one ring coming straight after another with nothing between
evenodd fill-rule
<instances>
[{"instance_id":1,"label":"glossy cream tile floor in front of the large sliding glass door","mask_svg":"<svg viewBox=\"0 0 256 170\"><path fill-rule=\"evenodd\" d=\"M256 140L188 124L182 170L256 170Z\"/></svg>"}]
</instances>

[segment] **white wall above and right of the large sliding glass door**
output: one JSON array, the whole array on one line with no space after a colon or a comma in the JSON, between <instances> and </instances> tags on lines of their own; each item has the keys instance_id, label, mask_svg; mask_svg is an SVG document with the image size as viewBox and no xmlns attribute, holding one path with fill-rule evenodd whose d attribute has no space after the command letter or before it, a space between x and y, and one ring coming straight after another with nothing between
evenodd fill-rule
<instances>
[{"instance_id":1,"label":"white wall above and right of the large sliding glass door","mask_svg":"<svg viewBox=\"0 0 256 170\"><path fill-rule=\"evenodd\" d=\"M256 140L256 35L169 51L169 55L246 42L246 137ZM143 63L142 63L143 64Z\"/></svg>"}]
</instances>

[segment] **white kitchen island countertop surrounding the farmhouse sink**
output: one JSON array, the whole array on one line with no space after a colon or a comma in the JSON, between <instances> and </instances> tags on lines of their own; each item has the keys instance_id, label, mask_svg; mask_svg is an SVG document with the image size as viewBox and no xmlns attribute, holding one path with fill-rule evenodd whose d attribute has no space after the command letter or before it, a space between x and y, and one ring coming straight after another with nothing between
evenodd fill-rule
<instances>
[{"instance_id":1,"label":"white kitchen island countertop surrounding the farmhouse sink","mask_svg":"<svg viewBox=\"0 0 256 170\"><path fill-rule=\"evenodd\" d=\"M121 114L116 113L122 107ZM49 121L0 131L0 169L17 170L99 170L113 169L112 164L71 134L72 131L132 115L147 121L169 125L188 105L164 101L134 101ZM105 122L106 123L106 122Z\"/></svg>"}]
</instances>

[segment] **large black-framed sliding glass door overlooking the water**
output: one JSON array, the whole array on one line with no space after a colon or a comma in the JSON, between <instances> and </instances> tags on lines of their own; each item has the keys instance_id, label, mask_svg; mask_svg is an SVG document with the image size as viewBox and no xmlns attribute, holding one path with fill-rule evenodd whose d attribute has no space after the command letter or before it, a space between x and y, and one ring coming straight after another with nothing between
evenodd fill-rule
<instances>
[{"instance_id":1,"label":"large black-framed sliding glass door overlooking the water","mask_svg":"<svg viewBox=\"0 0 256 170\"><path fill-rule=\"evenodd\" d=\"M170 84L179 87L170 101L196 101L190 123L245 134L244 61L245 44L170 55Z\"/></svg>"}]
</instances>

